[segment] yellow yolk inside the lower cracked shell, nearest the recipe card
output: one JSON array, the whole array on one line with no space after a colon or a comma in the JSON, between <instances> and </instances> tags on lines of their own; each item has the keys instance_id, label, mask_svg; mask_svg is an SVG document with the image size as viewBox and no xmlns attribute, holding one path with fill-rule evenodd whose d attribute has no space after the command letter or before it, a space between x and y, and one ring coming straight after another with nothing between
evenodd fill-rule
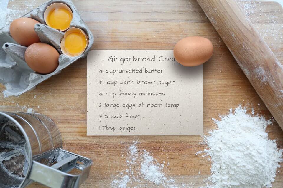
<instances>
[{"instance_id":1,"label":"yellow yolk inside the lower cracked shell, nearest the recipe card","mask_svg":"<svg viewBox=\"0 0 283 188\"><path fill-rule=\"evenodd\" d=\"M65 37L65 49L72 55L77 55L85 50L87 39L80 31L68 34Z\"/></svg>"}]
</instances>

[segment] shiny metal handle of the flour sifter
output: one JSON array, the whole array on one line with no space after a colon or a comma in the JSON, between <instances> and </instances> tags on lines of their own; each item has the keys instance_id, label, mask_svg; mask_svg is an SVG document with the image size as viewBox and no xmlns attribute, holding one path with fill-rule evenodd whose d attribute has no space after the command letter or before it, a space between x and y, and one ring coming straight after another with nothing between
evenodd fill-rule
<instances>
[{"instance_id":1,"label":"shiny metal handle of the flour sifter","mask_svg":"<svg viewBox=\"0 0 283 188\"><path fill-rule=\"evenodd\" d=\"M33 161L29 179L51 188L79 188L88 178L92 160L66 150L60 149L60 152L67 153L69 157L57 162L51 167ZM78 175L67 173L74 168L82 172Z\"/></svg>"}]
</instances>

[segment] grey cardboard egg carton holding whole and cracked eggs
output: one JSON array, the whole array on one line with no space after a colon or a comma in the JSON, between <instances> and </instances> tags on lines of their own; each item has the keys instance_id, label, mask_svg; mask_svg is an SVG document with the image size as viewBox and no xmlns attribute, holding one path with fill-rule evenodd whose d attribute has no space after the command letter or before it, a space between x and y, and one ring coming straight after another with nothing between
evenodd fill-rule
<instances>
[{"instance_id":1,"label":"grey cardboard egg carton holding whole and cracked eggs","mask_svg":"<svg viewBox=\"0 0 283 188\"><path fill-rule=\"evenodd\" d=\"M46 25L43 18L43 13L47 6L53 3L64 3L68 5L73 11L73 19L70 23L70 28L80 28L88 36L88 46L81 55L69 57L62 54L60 49L60 41L63 39L64 32L50 28ZM10 24L3 27L0 29L0 46L2 46L2 48L0 48L0 83L6 87L6 90L3 91L4 97L12 95L18 96L22 93L35 89L37 84L43 82L53 75L61 73L62 69L66 68L76 60L85 58L94 42L91 31L89 30L88 26L86 26L73 3L69 0L47 1L22 17L29 17L40 22L40 24L35 24L34 30L39 36L41 42L50 44L60 53L59 66L54 72L46 75L34 72L31 68L29 68L24 60L24 53L27 47L19 45L11 37L9 31Z\"/></svg>"}]
</instances>

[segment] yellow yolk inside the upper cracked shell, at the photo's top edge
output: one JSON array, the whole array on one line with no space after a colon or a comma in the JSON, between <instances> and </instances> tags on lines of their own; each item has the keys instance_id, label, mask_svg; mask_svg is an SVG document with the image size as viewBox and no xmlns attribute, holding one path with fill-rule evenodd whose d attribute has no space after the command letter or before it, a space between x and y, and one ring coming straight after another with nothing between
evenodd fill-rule
<instances>
[{"instance_id":1,"label":"yellow yolk inside the upper cracked shell, at the photo's top edge","mask_svg":"<svg viewBox=\"0 0 283 188\"><path fill-rule=\"evenodd\" d=\"M50 11L46 23L54 29L65 30L70 27L72 19L72 13L68 9L56 8Z\"/></svg>"}]
</instances>

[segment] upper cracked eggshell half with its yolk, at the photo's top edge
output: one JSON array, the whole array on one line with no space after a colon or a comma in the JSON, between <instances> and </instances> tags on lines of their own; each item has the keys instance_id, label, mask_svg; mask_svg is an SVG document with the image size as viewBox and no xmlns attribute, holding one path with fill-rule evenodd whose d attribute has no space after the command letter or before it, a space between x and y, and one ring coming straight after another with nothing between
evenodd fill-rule
<instances>
[{"instance_id":1,"label":"upper cracked eggshell half with its yolk, at the photo's top edge","mask_svg":"<svg viewBox=\"0 0 283 188\"><path fill-rule=\"evenodd\" d=\"M66 31L70 28L73 12L64 3L53 3L47 6L43 13L43 18L47 26L59 31Z\"/></svg>"}]
</instances>

